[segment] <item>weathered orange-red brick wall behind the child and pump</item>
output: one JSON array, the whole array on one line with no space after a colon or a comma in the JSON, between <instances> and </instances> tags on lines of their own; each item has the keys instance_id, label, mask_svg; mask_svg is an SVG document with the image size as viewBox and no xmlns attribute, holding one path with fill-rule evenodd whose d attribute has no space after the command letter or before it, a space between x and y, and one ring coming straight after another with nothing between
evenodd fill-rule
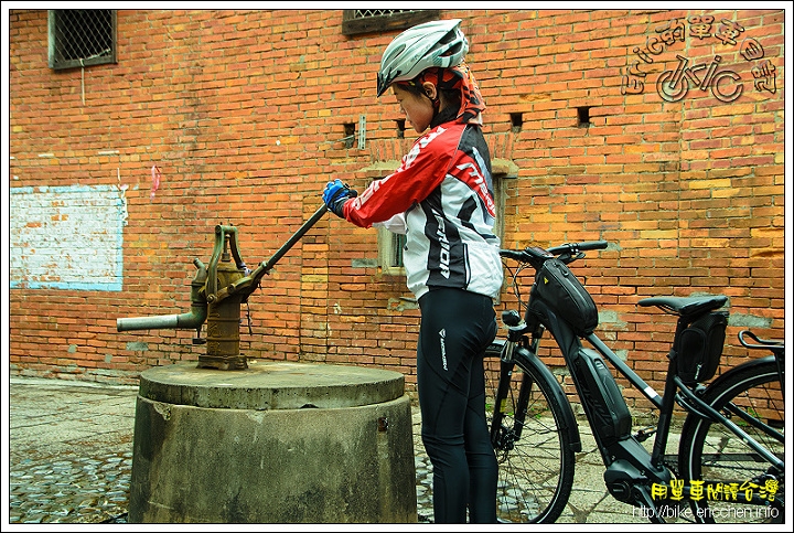
<instances>
[{"instance_id":1,"label":"weathered orange-red brick wall behind the child and pump","mask_svg":"<svg viewBox=\"0 0 794 533\"><path fill-rule=\"evenodd\" d=\"M504 246L609 241L575 270L619 354L658 385L673 321L637 308L652 295L727 295L727 364L748 355L737 348L740 329L783 337L782 10L442 17L463 19L492 157L518 168L505 182ZM708 17L709 34L698 33ZM191 263L210 260L216 224L239 228L254 268L315 211L329 179L361 190L374 173L367 167L401 156L408 139L396 139L394 97L375 97L396 32L346 38L341 26L341 10L119 11L118 64L54 72L46 11L10 13L11 216L21 221L10 250L12 373L135 382L151 365L195 360L192 331L119 333L116 319L187 311ZM717 36L739 26L734 43ZM749 38L762 58L742 55ZM677 56L694 67L716 55L717 72L737 78L715 75L716 93L693 86L678 102L663 99L656 82ZM763 61L775 68L774 92L755 86ZM707 68L696 72L702 78ZM586 107L589 126L578 124ZM367 146L345 148L344 125L362 114ZM153 193L152 167L161 173ZM25 254L42 254L20 244L19 227L37 223L29 200L49 199L41 209L53 224L69 216L36 195L42 185L55 194L104 188L126 224L118 235L94 227L94 241L67 235L58 252L66 263L21 273L13 267L29 264ZM42 285L93 265L90 255L69 255L69 243L112 249L106 236L122 243L120 290ZM400 299L410 296L404 277L367 266L376 258L373 230L324 217L243 307L254 334L244 317L242 351L374 364L412 387L419 313ZM500 308L512 302L505 292Z\"/></svg>"}]
</instances>

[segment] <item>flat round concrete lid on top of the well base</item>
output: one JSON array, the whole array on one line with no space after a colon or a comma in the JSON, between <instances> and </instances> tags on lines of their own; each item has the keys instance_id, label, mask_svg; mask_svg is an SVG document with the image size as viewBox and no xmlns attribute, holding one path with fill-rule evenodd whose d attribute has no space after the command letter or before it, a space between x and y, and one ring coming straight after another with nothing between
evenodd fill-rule
<instances>
[{"instance_id":1,"label":"flat round concrete lid on top of the well base","mask_svg":"<svg viewBox=\"0 0 794 533\"><path fill-rule=\"evenodd\" d=\"M246 370L216 370L178 363L143 371L138 394L208 408L341 408L397 399L404 385L399 372L361 366L249 361Z\"/></svg>"}]
</instances>

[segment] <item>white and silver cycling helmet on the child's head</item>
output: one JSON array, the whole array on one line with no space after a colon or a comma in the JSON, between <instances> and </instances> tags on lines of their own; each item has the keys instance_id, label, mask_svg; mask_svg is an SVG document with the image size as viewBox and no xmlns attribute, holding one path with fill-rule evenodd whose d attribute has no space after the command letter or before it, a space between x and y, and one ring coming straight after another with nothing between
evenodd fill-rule
<instances>
[{"instance_id":1,"label":"white and silver cycling helmet on the child's head","mask_svg":"<svg viewBox=\"0 0 794 533\"><path fill-rule=\"evenodd\" d=\"M380 58L377 96L393 83L414 79L426 68L458 66L469 52L460 23L461 19L437 20L397 35Z\"/></svg>"}]
</instances>

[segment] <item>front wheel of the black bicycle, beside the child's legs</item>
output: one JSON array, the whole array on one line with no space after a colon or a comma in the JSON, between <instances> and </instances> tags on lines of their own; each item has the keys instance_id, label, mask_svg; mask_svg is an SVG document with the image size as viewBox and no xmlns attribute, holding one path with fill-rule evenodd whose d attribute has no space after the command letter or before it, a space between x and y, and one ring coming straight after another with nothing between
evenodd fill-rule
<instances>
[{"instance_id":1,"label":"front wheel of the black bicycle, beside the child's legs","mask_svg":"<svg viewBox=\"0 0 794 533\"><path fill-rule=\"evenodd\" d=\"M496 348L485 359L486 413L492 430L501 372ZM562 429L564 407L551 387L560 387L549 372L541 375L523 358L515 359L511 386L504 398L498 443L494 450L498 461L496 515L500 522L552 523L564 511L573 486L576 456L570 434ZM524 375L529 377L533 394L527 417L515 438L516 404Z\"/></svg>"}]
</instances>

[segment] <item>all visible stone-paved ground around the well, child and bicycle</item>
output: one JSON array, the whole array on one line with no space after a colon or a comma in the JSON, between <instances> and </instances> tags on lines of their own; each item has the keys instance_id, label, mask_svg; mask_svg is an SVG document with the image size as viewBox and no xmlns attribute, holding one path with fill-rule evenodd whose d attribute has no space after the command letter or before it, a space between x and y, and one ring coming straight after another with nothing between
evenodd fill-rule
<instances>
[{"instance_id":1,"label":"all visible stone-paved ground around the well, child and bicycle","mask_svg":"<svg viewBox=\"0 0 794 533\"><path fill-rule=\"evenodd\" d=\"M8 523L126 523L138 387L30 377L10 384ZM419 424L415 408L417 519L432 523L432 467ZM580 430L586 450L558 522L647 523L607 493L594 443Z\"/></svg>"}]
</instances>

